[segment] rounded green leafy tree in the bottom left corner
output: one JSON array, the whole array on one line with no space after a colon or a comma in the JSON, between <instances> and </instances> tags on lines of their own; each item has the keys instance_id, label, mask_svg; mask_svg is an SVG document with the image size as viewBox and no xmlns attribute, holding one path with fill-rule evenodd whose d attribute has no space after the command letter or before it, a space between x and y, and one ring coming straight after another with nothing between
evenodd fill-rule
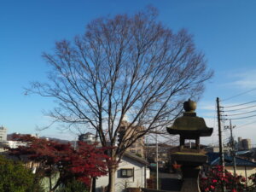
<instances>
[{"instance_id":1,"label":"rounded green leafy tree in the bottom left corner","mask_svg":"<svg viewBox=\"0 0 256 192\"><path fill-rule=\"evenodd\" d=\"M39 189L40 186L34 183L31 170L20 161L9 160L0 155L0 192L34 192Z\"/></svg>"}]
</instances>

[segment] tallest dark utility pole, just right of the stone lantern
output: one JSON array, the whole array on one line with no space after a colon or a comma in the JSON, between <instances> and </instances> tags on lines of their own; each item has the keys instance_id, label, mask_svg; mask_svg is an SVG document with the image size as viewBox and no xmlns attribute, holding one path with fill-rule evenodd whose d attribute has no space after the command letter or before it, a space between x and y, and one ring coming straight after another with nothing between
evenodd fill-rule
<instances>
[{"instance_id":1,"label":"tallest dark utility pole, just right of the stone lantern","mask_svg":"<svg viewBox=\"0 0 256 192\"><path fill-rule=\"evenodd\" d=\"M223 167L222 174L224 176L225 168L224 168L224 153L223 153L223 143L222 143L222 130L221 130L221 123L220 123L220 107L219 107L219 98L217 97L217 117L218 117L218 148L219 148L219 159L220 159L220 166ZM225 186L222 184L222 191L225 192Z\"/></svg>"}]
</instances>

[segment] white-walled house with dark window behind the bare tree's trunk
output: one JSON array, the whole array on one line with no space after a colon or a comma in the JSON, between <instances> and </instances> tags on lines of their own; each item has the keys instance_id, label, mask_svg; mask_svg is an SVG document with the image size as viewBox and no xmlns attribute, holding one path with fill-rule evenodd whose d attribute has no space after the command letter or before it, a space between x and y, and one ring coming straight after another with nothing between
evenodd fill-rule
<instances>
[{"instance_id":1,"label":"white-walled house with dark window behind the bare tree's trunk","mask_svg":"<svg viewBox=\"0 0 256 192\"><path fill-rule=\"evenodd\" d=\"M149 178L147 160L127 152L115 173L115 192L124 192L126 188L144 188L147 178ZM106 186L108 186L108 176L96 179L96 192L104 191Z\"/></svg>"}]
</instances>

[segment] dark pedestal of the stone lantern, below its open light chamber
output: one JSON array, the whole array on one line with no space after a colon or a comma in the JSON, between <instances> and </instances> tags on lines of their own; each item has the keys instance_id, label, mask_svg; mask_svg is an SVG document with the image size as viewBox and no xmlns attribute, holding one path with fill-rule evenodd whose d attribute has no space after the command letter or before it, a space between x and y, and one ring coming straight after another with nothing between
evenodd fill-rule
<instances>
[{"instance_id":1,"label":"dark pedestal of the stone lantern, below its open light chamber","mask_svg":"<svg viewBox=\"0 0 256 192\"><path fill-rule=\"evenodd\" d=\"M183 186L181 192L200 192L198 175L201 165L207 162L207 155L202 153L177 152L172 160L181 165Z\"/></svg>"}]
</instances>

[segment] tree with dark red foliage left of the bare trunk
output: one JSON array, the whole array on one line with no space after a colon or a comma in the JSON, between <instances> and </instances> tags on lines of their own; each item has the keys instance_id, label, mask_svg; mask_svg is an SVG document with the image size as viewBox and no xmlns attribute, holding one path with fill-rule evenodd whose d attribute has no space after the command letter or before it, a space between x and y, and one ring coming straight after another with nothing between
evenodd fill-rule
<instances>
[{"instance_id":1,"label":"tree with dark red foliage left of the bare trunk","mask_svg":"<svg viewBox=\"0 0 256 192\"><path fill-rule=\"evenodd\" d=\"M61 183L65 184L73 178L88 186L91 177L107 174L108 156L105 148L79 142L75 150L70 143L57 143L29 135L15 135L14 139L25 145L9 148L9 154L38 163L36 174L38 177L49 177L49 191L54 191ZM59 177L52 185L51 177L57 172Z\"/></svg>"}]
</instances>

